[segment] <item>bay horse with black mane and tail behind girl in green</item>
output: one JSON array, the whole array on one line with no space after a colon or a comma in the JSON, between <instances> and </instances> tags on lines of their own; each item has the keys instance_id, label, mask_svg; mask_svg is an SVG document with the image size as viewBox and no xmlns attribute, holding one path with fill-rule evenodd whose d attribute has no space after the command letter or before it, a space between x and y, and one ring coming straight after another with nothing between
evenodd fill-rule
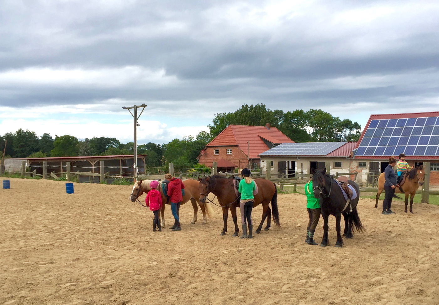
<instances>
[{"instance_id":1,"label":"bay horse with black mane and tail behind girl in green","mask_svg":"<svg viewBox=\"0 0 439 305\"><path fill-rule=\"evenodd\" d=\"M206 178L198 178L200 181L199 184L199 193L200 193L200 201L206 202L207 195L209 192L212 192L218 198L219 205L223 209L223 221L224 227L221 235L225 235L227 232L227 214L229 212L232 214L232 219L235 224L235 232L233 236L238 236L238 225L237 225L237 216L236 216L236 208L239 206L239 202L237 202L237 196L235 193L234 186L234 178L226 178L220 175L215 175ZM276 185L273 182L268 181L266 179L255 179L256 185L258 186L258 194L255 195L255 199L253 202L253 207L262 204L262 221L259 224L258 229L255 231L256 233L260 233L262 226L264 224L265 218L267 218L267 226L265 227L265 231L268 231L270 228L270 214L271 209L268 206L271 201L271 208L273 209L273 221L277 227L281 226L279 221L279 211L277 210L277 189Z\"/></svg>"}]
</instances>

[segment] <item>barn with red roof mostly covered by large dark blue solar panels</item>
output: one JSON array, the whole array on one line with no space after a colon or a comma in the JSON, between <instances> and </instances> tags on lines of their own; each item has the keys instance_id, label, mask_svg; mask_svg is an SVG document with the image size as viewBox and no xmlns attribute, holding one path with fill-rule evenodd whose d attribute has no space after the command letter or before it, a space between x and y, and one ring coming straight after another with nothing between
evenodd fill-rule
<instances>
[{"instance_id":1,"label":"barn with red roof mostly covered by large dark blue solar panels","mask_svg":"<svg viewBox=\"0 0 439 305\"><path fill-rule=\"evenodd\" d=\"M369 117L354 154L358 168L363 168L362 180L368 172L384 172L389 157L400 153L410 166L430 162L430 185L439 186L439 111Z\"/></svg>"}]
</instances>

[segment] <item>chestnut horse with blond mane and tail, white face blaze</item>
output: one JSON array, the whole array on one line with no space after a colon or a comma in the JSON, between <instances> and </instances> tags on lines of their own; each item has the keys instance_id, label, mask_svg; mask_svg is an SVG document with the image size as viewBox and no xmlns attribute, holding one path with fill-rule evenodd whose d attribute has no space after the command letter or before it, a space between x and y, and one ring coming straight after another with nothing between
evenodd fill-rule
<instances>
[{"instance_id":1,"label":"chestnut horse with blond mane and tail, white face blaze","mask_svg":"<svg viewBox=\"0 0 439 305\"><path fill-rule=\"evenodd\" d=\"M139 181L136 181L134 183L133 190L131 191L131 195L130 195L131 202L135 202L136 200L138 200L139 196L142 195L143 193L149 192L149 190L150 190L149 184L151 183L151 181L152 180L139 180ZM184 184L184 196L183 196L183 201L181 202L181 204L184 204L184 203L188 202L189 200L191 200L192 207L194 208L194 217L193 217L191 223L194 224L197 222L197 218L198 218L197 202L198 202L198 205L200 206L200 208L203 212L203 222L202 223L207 223L207 217L212 218L213 209L212 209L212 206L210 206L209 204L206 204L206 203L200 201L200 192L198 191L198 181L194 180L194 179L188 179L188 180L183 181L183 184ZM162 202L164 204L166 202L167 198L165 197L165 195L163 195L162 182L160 182L160 181L158 181L158 190L162 194ZM167 203L170 204L169 202L167 202ZM160 211L160 215L161 215L160 222L162 223L162 227L164 227L165 226L165 209L162 208L162 210Z\"/></svg>"}]
</instances>

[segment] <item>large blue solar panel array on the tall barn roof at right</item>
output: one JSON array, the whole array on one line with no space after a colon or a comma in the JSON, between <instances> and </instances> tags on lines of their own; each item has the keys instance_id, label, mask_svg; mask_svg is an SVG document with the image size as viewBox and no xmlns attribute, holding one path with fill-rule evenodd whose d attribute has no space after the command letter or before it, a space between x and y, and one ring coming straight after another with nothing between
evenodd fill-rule
<instances>
[{"instance_id":1,"label":"large blue solar panel array on the tall barn roof at right","mask_svg":"<svg viewBox=\"0 0 439 305\"><path fill-rule=\"evenodd\" d=\"M439 117L372 120L356 156L439 156Z\"/></svg>"}]
</instances>

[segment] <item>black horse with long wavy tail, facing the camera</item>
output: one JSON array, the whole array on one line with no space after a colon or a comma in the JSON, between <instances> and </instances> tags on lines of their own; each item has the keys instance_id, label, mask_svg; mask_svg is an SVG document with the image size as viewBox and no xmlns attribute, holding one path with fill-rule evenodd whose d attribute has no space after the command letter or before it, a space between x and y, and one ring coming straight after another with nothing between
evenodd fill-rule
<instances>
[{"instance_id":1,"label":"black horse with long wavy tail, facing the camera","mask_svg":"<svg viewBox=\"0 0 439 305\"><path fill-rule=\"evenodd\" d=\"M328 216L334 215L336 221L335 229L337 230L337 242L335 243L335 247L340 248L343 245L343 239L340 234L341 214L343 214L345 219L345 231L343 236L346 238L353 237L352 225L355 226L356 231L364 231L356 209L358 199L360 198L360 188L354 181L348 180L348 183L355 188L357 197L351 200L346 206L346 200L341 188L332 177L326 174L326 168L322 171L311 169L311 174L313 175L314 197L320 198L320 208L322 209L323 217L323 239L320 243L320 247L329 245Z\"/></svg>"}]
</instances>

